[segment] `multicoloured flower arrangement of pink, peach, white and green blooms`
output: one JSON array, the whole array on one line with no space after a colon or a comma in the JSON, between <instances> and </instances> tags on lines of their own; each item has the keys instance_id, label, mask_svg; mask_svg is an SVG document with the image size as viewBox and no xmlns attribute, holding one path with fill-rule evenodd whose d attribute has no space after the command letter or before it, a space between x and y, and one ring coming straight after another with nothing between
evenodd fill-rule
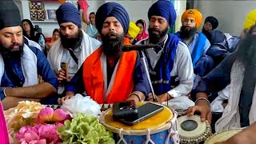
<instances>
[{"instance_id":1,"label":"multicoloured flower arrangement of pink, peach, white and green blooms","mask_svg":"<svg viewBox=\"0 0 256 144\"><path fill-rule=\"evenodd\" d=\"M81 95L76 95L56 110L38 102L20 102L5 112L7 123L16 121L9 122L8 126L13 130L11 143L114 143L113 134L98 120L100 108L90 97Z\"/></svg>"}]
</instances>

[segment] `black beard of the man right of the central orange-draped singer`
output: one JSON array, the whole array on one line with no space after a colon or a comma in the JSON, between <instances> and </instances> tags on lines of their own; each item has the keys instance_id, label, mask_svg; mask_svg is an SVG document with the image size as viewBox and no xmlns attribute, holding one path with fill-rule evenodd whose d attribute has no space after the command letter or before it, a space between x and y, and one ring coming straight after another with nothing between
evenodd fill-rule
<instances>
[{"instance_id":1,"label":"black beard of the man right of the central orange-draped singer","mask_svg":"<svg viewBox=\"0 0 256 144\"><path fill-rule=\"evenodd\" d=\"M155 30L157 30L159 34L154 34L153 31ZM169 30L168 27L163 31L160 31L159 29L156 29L156 28L149 28L148 31L149 31L150 43L158 44L158 42L160 42L160 40L166 36L168 30Z\"/></svg>"}]
</instances>

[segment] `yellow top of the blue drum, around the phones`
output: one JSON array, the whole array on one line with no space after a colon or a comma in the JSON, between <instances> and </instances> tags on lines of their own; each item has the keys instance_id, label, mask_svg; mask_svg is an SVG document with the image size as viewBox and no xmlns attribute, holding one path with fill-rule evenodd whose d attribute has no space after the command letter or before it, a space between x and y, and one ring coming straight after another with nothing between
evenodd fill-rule
<instances>
[{"instance_id":1,"label":"yellow top of the blue drum, around the phones","mask_svg":"<svg viewBox=\"0 0 256 144\"><path fill-rule=\"evenodd\" d=\"M141 106L142 104L145 104L145 102L137 103L137 106ZM107 125L110 125L119 129L122 128L124 130L146 130L146 129L156 129L161 126L164 126L166 122L170 121L171 118L173 118L173 113L169 108L164 106L164 109L161 112L159 112L158 114L155 114L150 118L146 118L146 120L139 122L134 126L126 126L122 124L122 122L114 121L114 118L112 116L112 110L109 110L106 113L105 122Z\"/></svg>"}]
</instances>

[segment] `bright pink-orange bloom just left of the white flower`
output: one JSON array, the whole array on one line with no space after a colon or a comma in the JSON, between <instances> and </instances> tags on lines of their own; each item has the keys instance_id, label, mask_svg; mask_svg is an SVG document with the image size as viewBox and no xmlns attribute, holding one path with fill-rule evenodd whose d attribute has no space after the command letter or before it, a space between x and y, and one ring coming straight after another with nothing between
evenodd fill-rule
<instances>
[{"instance_id":1,"label":"bright pink-orange bloom just left of the white flower","mask_svg":"<svg viewBox=\"0 0 256 144\"><path fill-rule=\"evenodd\" d=\"M54 110L51 107L46 107L40 110L38 114L38 118L36 119L36 122L41 124L61 122L69 118L68 116L69 114L67 114L62 109Z\"/></svg>"}]
</instances>

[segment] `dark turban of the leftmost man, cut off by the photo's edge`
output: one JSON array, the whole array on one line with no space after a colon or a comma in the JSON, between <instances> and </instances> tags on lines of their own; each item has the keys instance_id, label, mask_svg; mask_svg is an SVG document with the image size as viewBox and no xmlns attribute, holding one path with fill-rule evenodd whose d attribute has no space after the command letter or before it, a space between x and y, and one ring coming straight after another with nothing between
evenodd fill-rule
<instances>
[{"instance_id":1,"label":"dark turban of the leftmost man, cut off by the photo's edge","mask_svg":"<svg viewBox=\"0 0 256 144\"><path fill-rule=\"evenodd\" d=\"M21 16L18 6L10 0L0 0L0 30L6 27L20 26Z\"/></svg>"}]
</instances>

